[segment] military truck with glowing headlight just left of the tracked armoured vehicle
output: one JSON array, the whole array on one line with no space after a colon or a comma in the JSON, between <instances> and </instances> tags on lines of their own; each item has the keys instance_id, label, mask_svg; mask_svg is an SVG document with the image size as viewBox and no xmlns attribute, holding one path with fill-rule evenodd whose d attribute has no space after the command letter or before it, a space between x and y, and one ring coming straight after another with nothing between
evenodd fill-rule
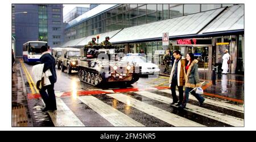
<instances>
[{"instance_id":1,"label":"military truck with glowing headlight just left of the tracked armoured vehicle","mask_svg":"<svg viewBox=\"0 0 256 142\"><path fill-rule=\"evenodd\" d=\"M77 61L81 58L80 49L63 48L60 57L61 71L67 69L67 73L71 74L72 70L77 71Z\"/></svg>"}]
</instances>

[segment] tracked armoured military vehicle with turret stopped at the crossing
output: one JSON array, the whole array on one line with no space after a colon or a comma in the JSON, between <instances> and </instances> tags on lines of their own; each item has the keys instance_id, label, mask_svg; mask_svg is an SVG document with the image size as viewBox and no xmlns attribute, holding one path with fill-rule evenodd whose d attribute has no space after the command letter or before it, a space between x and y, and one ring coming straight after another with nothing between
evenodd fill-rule
<instances>
[{"instance_id":1,"label":"tracked armoured military vehicle with turret stopped at the crossing","mask_svg":"<svg viewBox=\"0 0 256 142\"><path fill-rule=\"evenodd\" d=\"M85 55L78 61L78 76L85 83L100 86L110 83L130 85L139 80L140 67L118 61L114 49L81 49Z\"/></svg>"}]
</instances>

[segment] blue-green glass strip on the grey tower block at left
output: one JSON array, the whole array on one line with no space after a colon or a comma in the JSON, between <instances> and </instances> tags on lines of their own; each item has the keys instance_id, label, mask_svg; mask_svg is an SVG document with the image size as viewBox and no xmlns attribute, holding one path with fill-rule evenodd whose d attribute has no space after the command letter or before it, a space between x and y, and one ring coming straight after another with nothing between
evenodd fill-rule
<instances>
[{"instance_id":1,"label":"blue-green glass strip on the grey tower block at left","mask_svg":"<svg viewBox=\"0 0 256 142\"><path fill-rule=\"evenodd\" d=\"M39 41L48 40L48 31L47 31L47 6L39 5L38 6L38 20L39 20Z\"/></svg>"}]
</instances>

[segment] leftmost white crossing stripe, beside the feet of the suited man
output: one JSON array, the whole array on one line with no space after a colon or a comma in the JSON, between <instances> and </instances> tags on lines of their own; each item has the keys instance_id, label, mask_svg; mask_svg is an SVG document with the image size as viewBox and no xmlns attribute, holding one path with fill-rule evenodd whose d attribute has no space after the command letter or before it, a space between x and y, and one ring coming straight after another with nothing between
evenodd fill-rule
<instances>
[{"instance_id":1,"label":"leftmost white crossing stripe, beside the feet of the suited man","mask_svg":"<svg viewBox=\"0 0 256 142\"><path fill-rule=\"evenodd\" d=\"M48 112L54 126L84 127L84 124L76 117L68 106L65 105L61 98L56 98L56 103L57 110L55 112Z\"/></svg>"}]
</instances>

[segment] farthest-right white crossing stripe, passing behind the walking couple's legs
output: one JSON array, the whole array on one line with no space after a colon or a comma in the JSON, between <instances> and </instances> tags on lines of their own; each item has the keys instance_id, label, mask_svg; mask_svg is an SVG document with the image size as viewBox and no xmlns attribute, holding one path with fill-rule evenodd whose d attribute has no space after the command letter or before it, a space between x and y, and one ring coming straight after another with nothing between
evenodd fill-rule
<instances>
[{"instance_id":1,"label":"farthest-right white crossing stripe, passing behind the walking couple's legs","mask_svg":"<svg viewBox=\"0 0 256 142\"><path fill-rule=\"evenodd\" d=\"M159 90L159 91L170 93L170 94L172 93L170 89L168 89L168 90L164 89L164 90ZM179 92L176 91L176 94L179 94ZM193 95L189 95L189 99L197 101L196 97L193 96ZM228 103L220 102L220 101L213 101L213 100L210 100L209 98L205 98L204 103L214 105L214 106L220 106L220 107L223 107L225 109L234 110L234 111L237 111L237 112L240 112L240 113L244 113L243 106L228 104Z\"/></svg>"}]
</instances>

